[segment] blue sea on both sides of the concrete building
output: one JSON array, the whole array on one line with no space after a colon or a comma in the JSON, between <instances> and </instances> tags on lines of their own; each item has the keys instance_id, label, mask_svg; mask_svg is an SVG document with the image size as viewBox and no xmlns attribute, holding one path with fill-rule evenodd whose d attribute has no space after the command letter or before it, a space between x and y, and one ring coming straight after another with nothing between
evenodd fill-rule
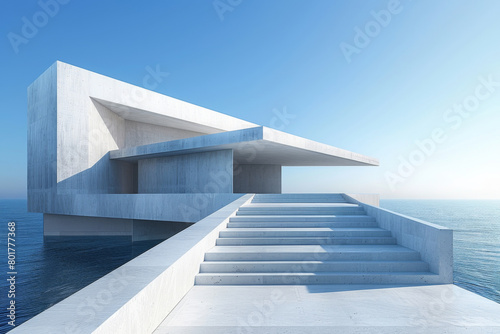
<instances>
[{"instance_id":1,"label":"blue sea on both sides of the concrete building","mask_svg":"<svg viewBox=\"0 0 500 334\"><path fill-rule=\"evenodd\" d=\"M382 200L380 206L454 229L455 284L500 303L500 201ZM26 200L0 200L0 333L7 324L7 233L16 222L16 326L159 241L126 237L43 238L42 215Z\"/></svg>"}]
</instances>

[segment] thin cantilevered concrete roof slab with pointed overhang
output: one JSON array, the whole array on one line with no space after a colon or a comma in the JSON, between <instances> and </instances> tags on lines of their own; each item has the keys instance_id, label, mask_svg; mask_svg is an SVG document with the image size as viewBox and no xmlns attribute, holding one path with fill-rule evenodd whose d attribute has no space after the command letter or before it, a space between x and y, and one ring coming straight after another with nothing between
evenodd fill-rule
<instances>
[{"instance_id":1,"label":"thin cantilevered concrete roof slab with pointed overhang","mask_svg":"<svg viewBox=\"0 0 500 334\"><path fill-rule=\"evenodd\" d=\"M233 150L240 164L281 166L378 166L377 159L263 126L110 152L110 159L137 161L216 150Z\"/></svg>"}]
</instances>

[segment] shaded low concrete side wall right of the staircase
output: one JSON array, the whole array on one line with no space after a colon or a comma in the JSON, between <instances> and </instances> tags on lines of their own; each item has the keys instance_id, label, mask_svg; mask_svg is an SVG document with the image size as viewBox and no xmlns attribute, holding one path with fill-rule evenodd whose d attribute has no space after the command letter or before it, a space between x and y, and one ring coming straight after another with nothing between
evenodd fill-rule
<instances>
[{"instance_id":1,"label":"shaded low concrete side wall right of the staircase","mask_svg":"<svg viewBox=\"0 0 500 334\"><path fill-rule=\"evenodd\" d=\"M391 231L399 245L418 251L422 260L429 263L431 272L440 276L442 283L453 283L453 230L345 196L362 206L381 228Z\"/></svg>"}]
</instances>

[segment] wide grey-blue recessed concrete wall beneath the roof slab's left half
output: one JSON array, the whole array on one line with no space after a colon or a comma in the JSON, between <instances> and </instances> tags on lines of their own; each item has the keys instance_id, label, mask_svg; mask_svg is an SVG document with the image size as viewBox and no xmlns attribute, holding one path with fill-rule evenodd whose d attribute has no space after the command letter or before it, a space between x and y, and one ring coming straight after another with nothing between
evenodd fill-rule
<instances>
[{"instance_id":1,"label":"wide grey-blue recessed concrete wall beneath the roof slab's left half","mask_svg":"<svg viewBox=\"0 0 500 334\"><path fill-rule=\"evenodd\" d=\"M143 159L138 164L139 193L233 193L232 150Z\"/></svg>"}]
</instances>

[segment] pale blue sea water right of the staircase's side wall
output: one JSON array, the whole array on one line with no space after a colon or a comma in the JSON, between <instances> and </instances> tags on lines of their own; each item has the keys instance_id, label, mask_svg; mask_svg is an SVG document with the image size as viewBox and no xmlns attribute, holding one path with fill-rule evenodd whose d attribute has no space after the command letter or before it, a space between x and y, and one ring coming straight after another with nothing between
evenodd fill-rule
<instances>
[{"instance_id":1,"label":"pale blue sea water right of the staircase's side wall","mask_svg":"<svg viewBox=\"0 0 500 334\"><path fill-rule=\"evenodd\" d=\"M380 207L453 229L454 283L500 303L500 200L381 200Z\"/></svg>"}]
</instances>

